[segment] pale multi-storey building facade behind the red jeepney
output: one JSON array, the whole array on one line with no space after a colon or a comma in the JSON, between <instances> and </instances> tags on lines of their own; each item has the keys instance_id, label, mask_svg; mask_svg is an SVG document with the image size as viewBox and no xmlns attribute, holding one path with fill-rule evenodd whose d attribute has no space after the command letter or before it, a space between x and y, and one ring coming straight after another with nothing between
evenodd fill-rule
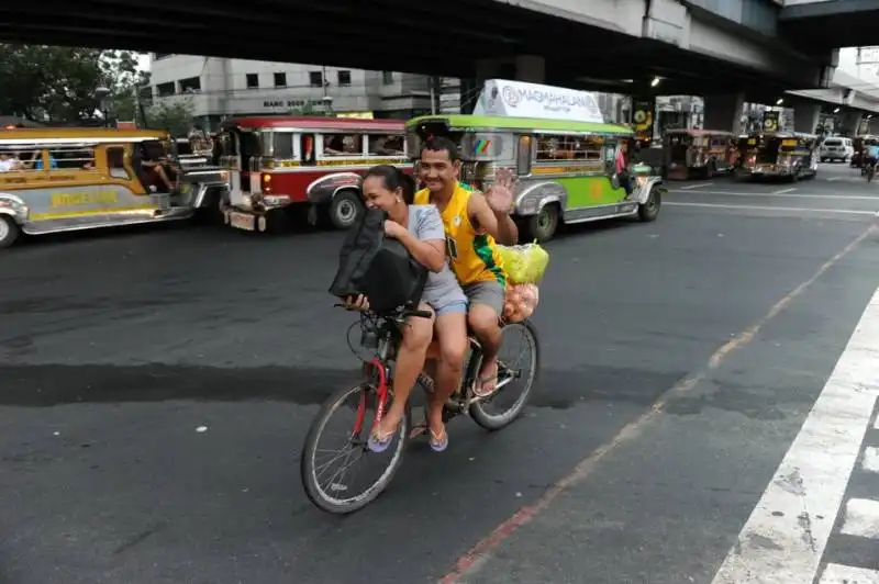
<instances>
[{"instance_id":1,"label":"pale multi-storey building facade behind the red jeepney","mask_svg":"<svg viewBox=\"0 0 879 584\"><path fill-rule=\"evenodd\" d=\"M232 115L431 111L431 80L421 75L156 53L149 65L153 102L189 101L205 130Z\"/></svg>"}]
</instances>

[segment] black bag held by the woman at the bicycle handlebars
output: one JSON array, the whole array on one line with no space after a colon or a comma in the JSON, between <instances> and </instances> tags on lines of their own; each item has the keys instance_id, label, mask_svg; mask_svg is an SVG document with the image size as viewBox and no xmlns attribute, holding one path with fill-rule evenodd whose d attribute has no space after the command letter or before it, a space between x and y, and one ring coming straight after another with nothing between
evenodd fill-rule
<instances>
[{"instance_id":1,"label":"black bag held by the woman at the bicycle handlebars","mask_svg":"<svg viewBox=\"0 0 879 584\"><path fill-rule=\"evenodd\" d=\"M369 308L379 314L418 304L427 281L427 268L403 244L385 237L387 218L380 209L370 209L351 228L330 287L330 293L341 299L363 294Z\"/></svg>"}]
</instances>

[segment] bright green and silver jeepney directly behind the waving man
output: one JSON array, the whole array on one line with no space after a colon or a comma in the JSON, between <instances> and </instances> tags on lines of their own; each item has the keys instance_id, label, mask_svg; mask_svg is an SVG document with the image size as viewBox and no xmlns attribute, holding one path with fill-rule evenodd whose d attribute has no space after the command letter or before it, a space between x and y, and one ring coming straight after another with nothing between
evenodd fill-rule
<instances>
[{"instance_id":1,"label":"bright green and silver jeepney directly behind the waving man","mask_svg":"<svg viewBox=\"0 0 879 584\"><path fill-rule=\"evenodd\" d=\"M513 216L522 238L550 239L559 223L637 216L654 221L664 187L650 167L636 166L626 195L614 172L616 149L633 133L622 126L546 119L431 115L408 124L409 151L418 156L432 136L452 138L463 159L460 180L491 184L494 169L514 168Z\"/></svg>"}]
</instances>

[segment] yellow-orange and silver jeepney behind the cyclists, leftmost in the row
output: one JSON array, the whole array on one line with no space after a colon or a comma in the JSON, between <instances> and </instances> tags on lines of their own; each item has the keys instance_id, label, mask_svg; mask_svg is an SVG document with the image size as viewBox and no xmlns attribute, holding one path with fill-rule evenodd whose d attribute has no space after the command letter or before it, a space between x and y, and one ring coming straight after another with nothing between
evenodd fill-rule
<instances>
[{"instance_id":1,"label":"yellow-orange and silver jeepney behind the cyclists, leftmost in the row","mask_svg":"<svg viewBox=\"0 0 879 584\"><path fill-rule=\"evenodd\" d=\"M218 209L227 180L220 168L179 171L171 155L176 189L163 192L133 164L146 151L171 150L162 131L0 130L0 248L22 233L185 220Z\"/></svg>"}]
</instances>

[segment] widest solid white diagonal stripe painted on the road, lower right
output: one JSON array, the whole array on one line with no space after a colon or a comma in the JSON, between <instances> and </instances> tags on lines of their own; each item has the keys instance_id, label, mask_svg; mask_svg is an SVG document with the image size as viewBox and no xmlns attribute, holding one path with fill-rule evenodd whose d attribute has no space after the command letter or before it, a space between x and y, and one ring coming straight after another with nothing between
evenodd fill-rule
<instances>
[{"instance_id":1,"label":"widest solid white diagonal stripe painted on the road, lower right","mask_svg":"<svg viewBox=\"0 0 879 584\"><path fill-rule=\"evenodd\" d=\"M813 581L872 419L877 363L879 290L712 584Z\"/></svg>"}]
</instances>

